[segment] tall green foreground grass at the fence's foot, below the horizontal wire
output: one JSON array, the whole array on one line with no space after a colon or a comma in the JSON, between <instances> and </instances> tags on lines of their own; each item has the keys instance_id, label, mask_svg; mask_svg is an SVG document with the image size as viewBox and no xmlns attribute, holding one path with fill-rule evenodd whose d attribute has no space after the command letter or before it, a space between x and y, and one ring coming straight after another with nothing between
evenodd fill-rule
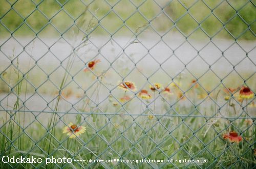
<instances>
[{"instance_id":1,"label":"tall green foreground grass at the fence's foot, below the horizontal wire","mask_svg":"<svg viewBox=\"0 0 256 169\"><path fill-rule=\"evenodd\" d=\"M127 107L129 108L129 107ZM190 112L195 110L194 106L185 107L177 105L173 107L178 112ZM197 108L196 111L200 111ZM214 109L211 109L214 111ZM22 112L17 112L22 114ZM42 113L41 117L50 120L48 115ZM174 115L170 113L168 115ZM12 145L6 137L1 134L2 143L2 155L23 155L23 156L39 156L47 157L48 146L51 145L52 149L49 155L53 155L54 158L62 158L63 156L72 159L96 159L97 156L100 159L114 159L122 156L122 159L208 159L208 163L199 164L200 167L206 166L210 168L216 167L239 167L239 168L251 168L255 165L255 159L253 155L253 144L255 144L255 122L252 126L244 123L244 120L238 119L229 121L227 119L218 119L215 123L211 123L209 118L195 118L195 117L167 117L167 116L154 116L154 119L150 120L147 116L130 116L120 115L103 115L100 112L94 115L64 115L58 114L62 121L69 123L70 117L76 116L77 119L81 119L80 122L73 121L81 126L86 126L86 133L82 134L79 138L70 139L65 134L62 134L61 128L66 126L62 122L58 124L56 133L54 135L55 144L50 143L47 140L46 135L49 133L38 122L34 122L32 125L25 124L25 133L19 135L16 130L13 131L13 141L20 138L23 140L22 147L19 147L17 140ZM34 119L34 115L26 112L26 117L31 120ZM40 118L36 118L38 121ZM114 124L118 123L119 127L115 127ZM16 127L16 126L14 126ZM248 128L247 128L248 127ZM210 128L208 130L208 128ZM243 140L241 143L229 143L223 140L222 135L226 133L228 129L239 129L243 132L243 137L248 140ZM7 130L2 130L9 136ZM205 131L208 131L205 133ZM29 136L27 136L29 135ZM205 136L204 136L205 135ZM31 137L31 138L30 138ZM33 140L32 140L33 138ZM46 141L45 141L46 140ZM250 147L252 145L252 147ZM18 151L14 149L14 146ZM10 150L11 152L7 151ZM39 149L41 148L41 149ZM8 153L9 152L9 153ZM96 156L97 155L97 156ZM216 157L216 158L215 158ZM239 162L237 162L239 161ZM78 164L79 163L79 164ZM71 164L58 164L61 167L76 167L89 166L90 167L115 167L115 168L128 168L129 166L145 168L150 167L150 164L146 163L88 163L84 162L72 162ZM175 163L178 167L197 168L198 166L193 164ZM8 164L1 163L1 168L9 167ZM11 164L17 168L30 168L31 164L16 165ZM163 166L164 168L173 168L173 164L151 164L155 166ZM35 164L35 166L46 167L45 164ZM55 168L55 164L48 164L47 168Z\"/></svg>"}]
</instances>

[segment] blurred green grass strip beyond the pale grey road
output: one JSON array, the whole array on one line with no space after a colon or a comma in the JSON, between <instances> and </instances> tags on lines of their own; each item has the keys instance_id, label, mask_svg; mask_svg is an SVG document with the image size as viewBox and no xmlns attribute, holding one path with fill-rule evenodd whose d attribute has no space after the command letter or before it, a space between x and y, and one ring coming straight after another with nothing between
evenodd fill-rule
<instances>
[{"instance_id":1,"label":"blurred green grass strip beyond the pale grey road","mask_svg":"<svg viewBox=\"0 0 256 169\"><path fill-rule=\"evenodd\" d=\"M254 39L253 16L256 13L252 3L245 0L230 1L231 6L227 2L220 4L220 1L205 1L208 7L202 1L194 4L192 1L185 0L181 1L182 4L178 1L172 1L172 3L161 1L160 7L154 1L142 3L138 0L133 1L134 5L129 1L120 1L117 4L116 1L108 1L109 4L104 1L84 1L84 4L83 1L58 2L35 1L34 4L31 1L20 0L16 3L11 1L11 4L14 3L11 5L1 1L0 18L1 23L5 25L0 24L1 34L6 36L10 34L14 36L69 35L69 30L77 26L73 25L74 20L88 9L91 12L86 12L87 20L93 17L95 21L92 34L108 36L119 33L131 34L127 27L136 32L137 27L149 23L147 29L151 32L155 30L160 34L166 33L173 26L174 32L181 31L185 36L189 36L197 29L198 36L207 38L215 37L217 34L219 38ZM139 12L136 11L137 7ZM211 10L214 15L211 14ZM176 24L174 25L173 22Z\"/></svg>"}]
</instances>

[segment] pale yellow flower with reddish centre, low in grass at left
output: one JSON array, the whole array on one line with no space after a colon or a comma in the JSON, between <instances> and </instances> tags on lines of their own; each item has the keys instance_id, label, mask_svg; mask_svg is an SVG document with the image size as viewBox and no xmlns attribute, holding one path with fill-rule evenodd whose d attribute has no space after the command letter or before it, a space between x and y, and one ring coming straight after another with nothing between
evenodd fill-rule
<instances>
[{"instance_id":1,"label":"pale yellow flower with reddish centre, low in grass at left","mask_svg":"<svg viewBox=\"0 0 256 169\"><path fill-rule=\"evenodd\" d=\"M64 127L63 128L63 134L64 133L67 133L67 135L70 137L70 138L75 138L79 135L81 135L82 133L84 133L84 131L86 131L86 127L84 126L77 126L73 123L69 123L68 126Z\"/></svg>"}]
</instances>

